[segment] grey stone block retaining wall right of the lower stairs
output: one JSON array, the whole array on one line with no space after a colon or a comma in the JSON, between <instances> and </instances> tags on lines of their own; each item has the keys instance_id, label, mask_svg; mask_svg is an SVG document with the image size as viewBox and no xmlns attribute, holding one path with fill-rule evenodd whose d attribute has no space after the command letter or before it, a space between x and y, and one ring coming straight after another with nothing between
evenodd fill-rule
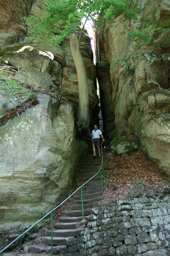
<instances>
[{"instance_id":1,"label":"grey stone block retaining wall right of the lower stairs","mask_svg":"<svg viewBox=\"0 0 170 256\"><path fill-rule=\"evenodd\" d=\"M169 213L169 195L108 201L94 209L74 255L169 255Z\"/></svg>"}]
</instances>

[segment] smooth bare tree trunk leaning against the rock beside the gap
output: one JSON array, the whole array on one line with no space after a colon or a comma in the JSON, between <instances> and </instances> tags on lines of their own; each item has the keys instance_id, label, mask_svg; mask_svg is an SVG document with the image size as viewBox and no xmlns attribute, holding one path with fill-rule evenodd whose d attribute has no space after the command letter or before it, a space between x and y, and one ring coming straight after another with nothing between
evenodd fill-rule
<instances>
[{"instance_id":1,"label":"smooth bare tree trunk leaning against the rock beside the gap","mask_svg":"<svg viewBox=\"0 0 170 256\"><path fill-rule=\"evenodd\" d=\"M87 82L87 74L85 64L79 48L79 41L77 34L70 35L70 46L77 71L78 85L79 85L79 122L85 121L89 128L89 89Z\"/></svg>"}]
</instances>

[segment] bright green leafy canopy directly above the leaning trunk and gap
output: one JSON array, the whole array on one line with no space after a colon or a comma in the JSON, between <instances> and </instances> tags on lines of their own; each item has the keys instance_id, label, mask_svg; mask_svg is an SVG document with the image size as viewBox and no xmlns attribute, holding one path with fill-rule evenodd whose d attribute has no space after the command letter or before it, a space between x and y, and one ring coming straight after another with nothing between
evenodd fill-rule
<instances>
[{"instance_id":1,"label":"bright green leafy canopy directly above the leaning trunk and gap","mask_svg":"<svg viewBox=\"0 0 170 256\"><path fill-rule=\"evenodd\" d=\"M123 13L125 19L138 20L140 6L134 0L44 0L47 16L41 21L32 16L28 20L34 35L53 34L53 43L60 43L71 33L80 33L87 20L95 28Z\"/></svg>"}]
</instances>

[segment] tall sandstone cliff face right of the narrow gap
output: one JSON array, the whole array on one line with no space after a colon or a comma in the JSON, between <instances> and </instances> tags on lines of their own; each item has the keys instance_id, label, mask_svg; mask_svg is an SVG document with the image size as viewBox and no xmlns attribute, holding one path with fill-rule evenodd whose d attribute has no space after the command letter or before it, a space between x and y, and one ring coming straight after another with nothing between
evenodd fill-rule
<instances>
[{"instance_id":1,"label":"tall sandstone cliff face right of the narrow gap","mask_svg":"<svg viewBox=\"0 0 170 256\"><path fill-rule=\"evenodd\" d=\"M149 12L153 9L153 1L143 1L143 4L146 3ZM162 0L159 4L155 1L154 5L157 7L157 18L164 22L170 3ZM142 15L147 17L146 13ZM110 116L110 119L105 120L106 131L110 132L114 124L112 129L115 136L136 135L141 149L162 171L170 175L170 130L167 121L170 114L170 55L169 46L163 44L166 32L159 35L159 39L162 39L161 48L150 45L144 50L134 47L134 42L130 44L121 35L122 19L121 15L117 16L115 23L106 24L103 32L97 34L96 52L100 53L97 68L106 59L108 65L112 64L110 76L107 71L99 79L99 84L102 79L110 80L109 89L101 85L101 90L104 88L102 93L107 93L108 99L111 98L103 102L103 108L108 109ZM130 32L135 30L133 23L130 23L129 29ZM113 63L112 60L119 55L130 56L129 62Z\"/></svg>"}]
</instances>

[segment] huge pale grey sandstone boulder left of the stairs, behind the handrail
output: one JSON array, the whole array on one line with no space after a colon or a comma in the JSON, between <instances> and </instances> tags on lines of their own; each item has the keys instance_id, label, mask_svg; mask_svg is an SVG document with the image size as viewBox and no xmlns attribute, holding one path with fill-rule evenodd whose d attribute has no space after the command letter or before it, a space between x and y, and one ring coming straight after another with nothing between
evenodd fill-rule
<instances>
[{"instance_id":1,"label":"huge pale grey sandstone boulder left of the stairs, behind the handrail","mask_svg":"<svg viewBox=\"0 0 170 256\"><path fill-rule=\"evenodd\" d=\"M76 139L74 108L39 95L39 104L0 127L0 226L4 244L72 191L87 145ZM42 225L42 224L41 224Z\"/></svg>"}]
</instances>

